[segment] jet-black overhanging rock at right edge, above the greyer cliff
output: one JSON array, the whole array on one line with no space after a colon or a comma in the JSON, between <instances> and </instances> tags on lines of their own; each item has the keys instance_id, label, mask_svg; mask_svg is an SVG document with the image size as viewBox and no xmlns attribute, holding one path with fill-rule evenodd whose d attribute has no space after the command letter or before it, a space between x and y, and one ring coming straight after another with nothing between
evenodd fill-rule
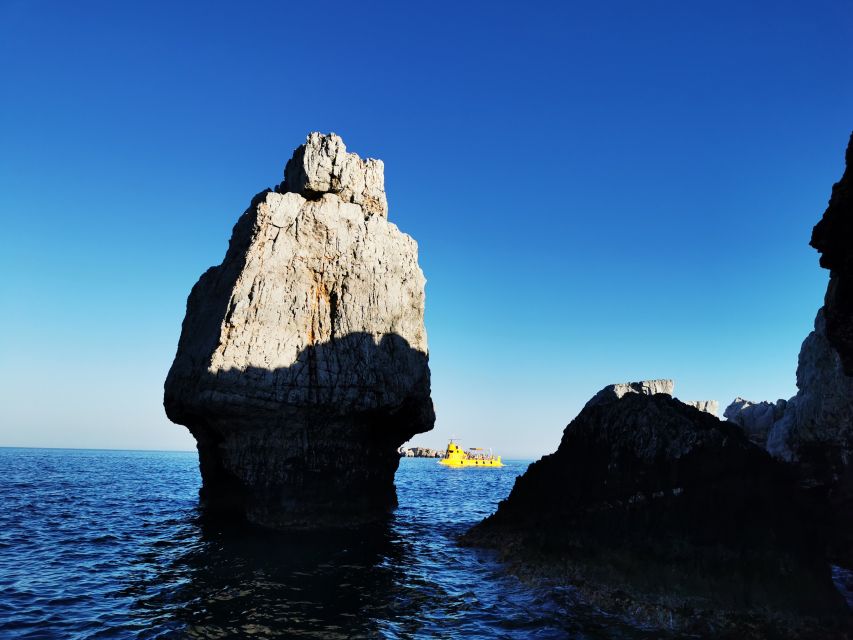
<instances>
[{"instance_id":1,"label":"jet-black overhanging rock at right edge, above the greyer cliff","mask_svg":"<svg viewBox=\"0 0 853 640\"><path fill-rule=\"evenodd\" d=\"M829 269L824 299L826 337L841 356L844 372L853 376L853 135L846 169L832 187L829 206L812 231L811 246L820 266Z\"/></svg>"}]
</instances>

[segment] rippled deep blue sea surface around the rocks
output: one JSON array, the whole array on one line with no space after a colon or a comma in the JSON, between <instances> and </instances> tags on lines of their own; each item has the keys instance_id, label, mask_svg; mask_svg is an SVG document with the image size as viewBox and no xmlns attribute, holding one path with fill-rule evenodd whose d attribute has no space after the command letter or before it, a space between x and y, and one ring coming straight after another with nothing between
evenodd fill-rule
<instances>
[{"instance_id":1,"label":"rippled deep blue sea surface around the rocks","mask_svg":"<svg viewBox=\"0 0 853 640\"><path fill-rule=\"evenodd\" d=\"M366 531L223 528L195 453L0 448L0 638L659 638L455 537L529 461L404 458Z\"/></svg>"}]
</instances>

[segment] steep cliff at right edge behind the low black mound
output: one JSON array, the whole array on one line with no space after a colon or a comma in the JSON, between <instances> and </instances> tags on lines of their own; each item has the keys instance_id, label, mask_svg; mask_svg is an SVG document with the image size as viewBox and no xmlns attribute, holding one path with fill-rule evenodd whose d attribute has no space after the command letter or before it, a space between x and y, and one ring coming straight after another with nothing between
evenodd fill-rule
<instances>
[{"instance_id":1,"label":"steep cliff at right edge behind the low black mound","mask_svg":"<svg viewBox=\"0 0 853 640\"><path fill-rule=\"evenodd\" d=\"M830 278L800 349L797 394L775 404L737 398L725 415L796 469L820 507L816 518L829 532L831 557L853 568L853 136L846 162L812 231Z\"/></svg>"}]
</instances>

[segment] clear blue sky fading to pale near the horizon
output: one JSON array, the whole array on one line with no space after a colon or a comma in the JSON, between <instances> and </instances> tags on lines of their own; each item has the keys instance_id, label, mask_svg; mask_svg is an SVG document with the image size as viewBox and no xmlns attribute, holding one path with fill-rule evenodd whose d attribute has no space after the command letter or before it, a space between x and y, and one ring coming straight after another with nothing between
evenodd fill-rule
<instances>
[{"instance_id":1,"label":"clear blue sky fading to pale near the horizon","mask_svg":"<svg viewBox=\"0 0 853 640\"><path fill-rule=\"evenodd\" d=\"M438 421L552 451L600 387L795 392L850 2L0 0L0 445L190 449L186 296L310 131L385 161Z\"/></svg>"}]
</instances>

